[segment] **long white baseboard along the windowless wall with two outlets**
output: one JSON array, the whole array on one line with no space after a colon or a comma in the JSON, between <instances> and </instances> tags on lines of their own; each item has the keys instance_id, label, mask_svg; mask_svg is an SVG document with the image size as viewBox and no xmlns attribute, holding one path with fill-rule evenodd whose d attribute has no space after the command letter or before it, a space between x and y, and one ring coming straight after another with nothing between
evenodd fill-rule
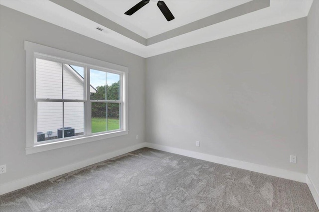
<instances>
[{"instance_id":1,"label":"long white baseboard along the windowless wall with two outlets","mask_svg":"<svg viewBox=\"0 0 319 212\"><path fill-rule=\"evenodd\" d=\"M307 177L306 177L306 174L304 173L289 171L289 170L280 169L280 168L274 168L270 166L259 165L255 163L244 162L240 160L234 160L234 159L225 158L225 157L219 157L219 156L210 155L210 154L204 154L204 153L200 153L196 151L190 151L190 150L175 148L171 146L159 145L155 143L146 143L146 147L154 148L154 149L158 149L162 151L167 151L170 153L180 154L187 157L193 157L196 159L206 160L209 162L219 163L219 164L223 164L227 166L232 166L236 168L246 169L249 171L259 172L262 174L268 174L275 177L281 177L288 180L295 180L302 183L307 182Z\"/></svg>"}]
</instances>

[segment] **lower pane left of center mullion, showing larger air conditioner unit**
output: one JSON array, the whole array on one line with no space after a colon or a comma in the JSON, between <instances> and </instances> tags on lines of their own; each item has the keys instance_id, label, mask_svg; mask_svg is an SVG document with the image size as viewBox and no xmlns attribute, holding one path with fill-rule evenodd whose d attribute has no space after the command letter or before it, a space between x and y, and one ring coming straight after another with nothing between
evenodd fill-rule
<instances>
[{"instance_id":1,"label":"lower pane left of center mullion, showing larger air conditioner unit","mask_svg":"<svg viewBox=\"0 0 319 212\"><path fill-rule=\"evenodd\" d=\"M64 102L64 138L84 134L84 103Z\"/></svg>"}]
</instances>

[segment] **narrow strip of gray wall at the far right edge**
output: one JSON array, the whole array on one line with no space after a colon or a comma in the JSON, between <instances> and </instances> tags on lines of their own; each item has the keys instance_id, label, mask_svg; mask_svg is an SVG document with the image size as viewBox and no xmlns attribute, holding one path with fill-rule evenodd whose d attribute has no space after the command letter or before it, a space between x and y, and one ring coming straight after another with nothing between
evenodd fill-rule
<instances>
[{"instance_id":1,"label":"narrow strip of gray wall at the far right edge","mask_svg":"<svg viewBox=\"0 0 319 212\"><path fill-rule=\"evenodd\" d=\"M319 1L308 14L308 176L319 192Z\"/></svg>"}]
</instances>

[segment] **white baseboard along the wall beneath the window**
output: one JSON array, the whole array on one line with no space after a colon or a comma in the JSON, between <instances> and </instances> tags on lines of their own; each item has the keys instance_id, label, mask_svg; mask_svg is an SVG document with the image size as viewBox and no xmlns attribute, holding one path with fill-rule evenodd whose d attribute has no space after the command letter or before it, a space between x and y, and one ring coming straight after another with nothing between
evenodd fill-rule
<instances>
[{"instance_id":1,"label":"white baseboard along the wall beneath the window","mask_svg":"<svg viewBox=\"0 0 319 212\"><path fill-rule=\"evenodd\" d=\"M137 150L139 148L143 148L145 146L146 146L146 143L138 143L138 144L128 146L128 147L123 148L123 149L119 149L117 151L109 152L109 153L99 155L99 156L96 156L96 157L93 157L93 158L90 158L87 160L82 160L82 161L72 163L72 164L67 165L67 166L53 169L53 170L50 170L48 172L42 172L39 174L31 175L31 176L26 177L26 178L22 178L22 179L15 180L12 182L0 184L0 195L6 194L6 193L11 192L11 191L15 191L17 189L24 188L26 186L30 186L32 184L35 184L35 183L38 183L38 182L41 182L44 180L48 180L48 179L53 178L53 177L57 177L61 174L65 174L65 173L68 173L70 171L74 171L74 170L92 165L94 163L98 163L98 162L101 162L101 161L104 161L104 160L107 160L107 159L110 159L113 157L120 156L122 154L126 154L130 151L134 151L134 150Z\"/></svg>"}]
</instances>

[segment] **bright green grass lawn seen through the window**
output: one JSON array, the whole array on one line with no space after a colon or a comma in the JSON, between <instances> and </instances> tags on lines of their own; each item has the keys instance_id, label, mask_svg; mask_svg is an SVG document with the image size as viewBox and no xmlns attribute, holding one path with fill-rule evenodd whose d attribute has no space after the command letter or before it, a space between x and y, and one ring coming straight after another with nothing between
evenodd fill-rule
<instances>
[{"instance_id":1,"label":"bright green grass lawn seen through the window","mask_svg":"<svg viewBox=\"0 0 319 212\"><path fill-rule=\"evenodd\" d=\"M106 129L106 119L92 118L92 133L100 133L110 130L120 129L120 120L108 118L108 129Z\"/></svg>"}]
</instances>

